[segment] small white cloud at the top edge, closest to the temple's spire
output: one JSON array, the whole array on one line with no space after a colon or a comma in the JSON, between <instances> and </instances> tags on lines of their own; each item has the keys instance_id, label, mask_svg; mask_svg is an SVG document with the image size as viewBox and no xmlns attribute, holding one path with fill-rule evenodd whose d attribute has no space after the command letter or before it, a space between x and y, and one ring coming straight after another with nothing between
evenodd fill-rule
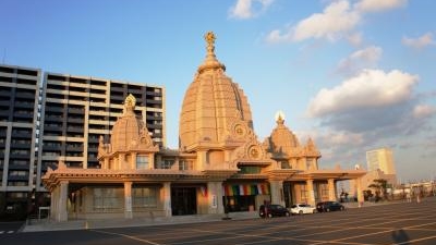
<instances>
[{"instance_id":1,"label":"small white cloud at the top edge, closest to the temple's spire","mask_svg":"<svg viewBox=\"0 0 436 245\"><path fill-rule=\"evenodd\" d=\"M229 16L234 19L252 19L265 11L274 0L238 0L230 8Z\"/></svg>"}]
</instances>

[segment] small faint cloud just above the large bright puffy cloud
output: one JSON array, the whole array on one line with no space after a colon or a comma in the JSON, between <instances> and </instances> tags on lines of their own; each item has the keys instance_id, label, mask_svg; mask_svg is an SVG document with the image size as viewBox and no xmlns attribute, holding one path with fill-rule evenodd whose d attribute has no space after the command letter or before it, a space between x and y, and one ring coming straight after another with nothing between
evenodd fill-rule
<instances>
[{"instance_id":1,"label":"small faint cloud just above the large bright puffy cloud","mask_svg":"<svg viewBox=\"0 0 436 245\"><path fill-rule=\"evenodd\" d=\"M364 68L373 68L380 59L382 52L382 48L376 46L358 50L339 62L337 72L348 76L355 74Z\"/></svg>"}]
</instances>

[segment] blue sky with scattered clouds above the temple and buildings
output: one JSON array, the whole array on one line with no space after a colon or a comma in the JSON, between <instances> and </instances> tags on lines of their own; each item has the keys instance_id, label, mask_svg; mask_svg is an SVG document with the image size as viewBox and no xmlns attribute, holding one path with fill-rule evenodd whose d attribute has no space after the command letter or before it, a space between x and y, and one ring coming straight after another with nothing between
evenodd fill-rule
<instances>
[{"instance_id":1,"label":"blue sky with scattered clouds above the temple and buildings","mask_svg":"<svg viewBox=\"0 0 436 245\"><path fill-rule=\"evenodd\" d=\"M393 151L403 182L436 176L434 0L0 0L0 63L165 86L178 147L204 34L249 98L261 142L282 111L320 169Z\"/></svg>"}]
</instances>

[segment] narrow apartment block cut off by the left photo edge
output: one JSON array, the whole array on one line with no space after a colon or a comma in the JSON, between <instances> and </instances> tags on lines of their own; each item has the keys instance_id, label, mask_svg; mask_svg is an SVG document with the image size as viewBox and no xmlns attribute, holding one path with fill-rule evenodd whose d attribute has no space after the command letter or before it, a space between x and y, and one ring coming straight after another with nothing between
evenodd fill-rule
<instances>
[{"instance_id":1,"label":"narrow apartment block cut off by the left photo edge","mask_svg":"<svg viewBox=\"0 0 436 245\"><path fill-rule=\"evenodd\" d=\"M0 217L27 211L35 185L38 69L0 65Z\"/></svg>"}]
</instances>

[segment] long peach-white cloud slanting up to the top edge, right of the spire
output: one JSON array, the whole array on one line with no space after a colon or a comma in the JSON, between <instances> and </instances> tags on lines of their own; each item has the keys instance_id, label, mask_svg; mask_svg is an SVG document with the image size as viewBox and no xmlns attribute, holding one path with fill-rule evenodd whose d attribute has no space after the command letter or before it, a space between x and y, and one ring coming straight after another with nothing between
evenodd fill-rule
<instances>
[{"instance_id":1,"label":"long peach-white cloud slanting up to the top edge, right of the spire","mask_svg":"<svg viewBox=\"0 0 436 245\"><path fill-rule=\"evenodd\" d=\"M323 13L315 13L291 26L284 33L271 30L268 42L301 41L310 38L326 38L335 41L352 30L361 21L358 12L351 11L346 0L335 1L327 5Z\"/></svg>"}]
</instances>

